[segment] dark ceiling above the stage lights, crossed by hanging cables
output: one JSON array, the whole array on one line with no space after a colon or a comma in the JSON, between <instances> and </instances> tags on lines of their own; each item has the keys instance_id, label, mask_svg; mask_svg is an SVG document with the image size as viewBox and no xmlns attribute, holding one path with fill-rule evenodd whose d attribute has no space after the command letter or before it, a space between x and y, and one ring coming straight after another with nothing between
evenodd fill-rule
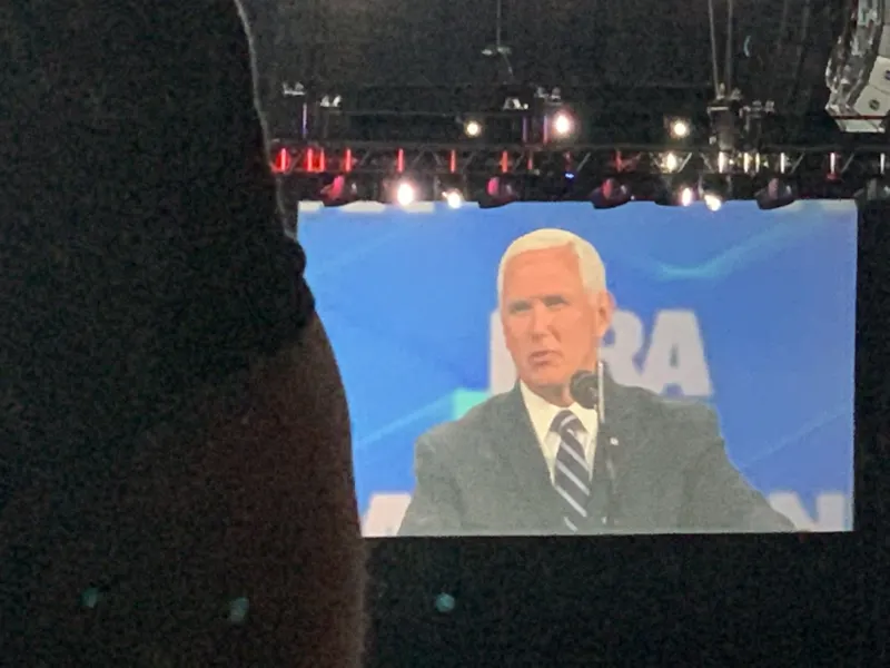
<instances>
[{"instance_id":1,"label":"dark ceiling above the stage lights, crossed by hanging cables","mask_svg":"<svg viewBox=\"0 0 890 668\"><path fill-rule=\"evenodd\" d=\"M508 76L486 58L497 0L244 0L266 87L453 87ZM841 0L735 0L734 81L788 115L818 109ZM714 0L724 60L728 0ZM501 33L523 84L564 88L711 87L706 0L502 0ZM639 92L639 90L637 90Z\"/></svg>"}]
</instances>

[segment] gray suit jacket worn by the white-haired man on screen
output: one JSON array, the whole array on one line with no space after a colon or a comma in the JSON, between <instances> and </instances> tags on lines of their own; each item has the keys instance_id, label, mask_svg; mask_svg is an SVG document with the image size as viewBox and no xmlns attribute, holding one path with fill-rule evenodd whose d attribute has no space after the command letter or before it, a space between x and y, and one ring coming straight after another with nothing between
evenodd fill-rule
<instances>
[{"instance_id":1,"label":"gray suit jacket worn by the white-haired man on screen","mask_svg":"<svg viewBox=\"0 0 890 668\"><path fill-rule=\"evenodd\" d=\"M612 517L584 533L794 530L729 461L712 409L609 379L605 400ZM566 532L518 386L422 435L415 473L399 536Z\"/></svg>"}]
</instances>

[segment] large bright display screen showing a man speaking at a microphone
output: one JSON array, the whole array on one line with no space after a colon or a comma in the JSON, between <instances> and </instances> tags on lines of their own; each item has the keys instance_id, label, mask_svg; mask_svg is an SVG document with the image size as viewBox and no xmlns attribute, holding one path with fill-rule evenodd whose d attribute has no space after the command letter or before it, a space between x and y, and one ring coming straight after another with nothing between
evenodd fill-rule
<instances>
[{"instance_id":1,"label":"large bright display screen showing a man speaking at a microphone","mask_svg":"<svg viewBox=\"0 0 890 668\"><path fill-rule=\"evenodd\" d=\"M852 203L306 203L299 238L365 536L852 529Z\"/></svg>"}]
</instances>

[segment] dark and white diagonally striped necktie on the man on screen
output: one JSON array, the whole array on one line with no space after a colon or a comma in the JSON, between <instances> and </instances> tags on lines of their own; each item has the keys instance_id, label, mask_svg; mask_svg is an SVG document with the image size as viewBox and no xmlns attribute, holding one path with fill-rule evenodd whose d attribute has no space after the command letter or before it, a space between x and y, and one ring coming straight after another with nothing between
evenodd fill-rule
<instances>
[{"instance_id":1,"label":"dark and white diagonally striped necktie on the man on screen","mask_svg":"<svg viewBox=\"0 0 890 668\"><path fill-rule=\"evenodd\" d=\"M551 430L560 436L553 485L563 499L563 522L572 533L587 521L591 469L584 454L584 428L572 411L560 411Z\"/></svg>"}]
</instances>

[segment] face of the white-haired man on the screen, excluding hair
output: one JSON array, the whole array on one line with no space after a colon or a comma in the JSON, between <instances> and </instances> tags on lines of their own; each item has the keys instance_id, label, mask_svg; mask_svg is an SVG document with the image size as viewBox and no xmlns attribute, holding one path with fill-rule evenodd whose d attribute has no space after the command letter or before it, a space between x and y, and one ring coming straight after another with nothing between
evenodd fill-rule
<instances>
[{"instance_id":1,"label":"face of the white-haired man on the screen, excluding hair","mask_svg":"<svg viewBox=\"0 0 890 668\"><path fill-rule=\"evenodd\" d=\"M605 291L584 289L571 246L528 250L504 268L501 322L520 379L556 403L578 370L592 371L612 320Z\"/></svg>"}]
</instances>

